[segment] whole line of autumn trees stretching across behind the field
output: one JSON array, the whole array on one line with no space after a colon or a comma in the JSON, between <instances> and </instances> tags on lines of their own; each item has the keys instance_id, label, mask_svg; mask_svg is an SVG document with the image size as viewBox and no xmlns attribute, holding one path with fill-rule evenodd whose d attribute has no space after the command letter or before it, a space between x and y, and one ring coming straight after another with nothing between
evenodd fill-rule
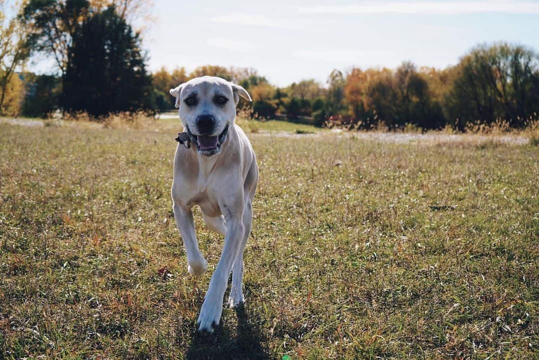
<instances>
[{"instance_id":1,"label":"whole line of autumn trees stretching across behind the field","mask_svg":"<svg viewBox=\"0 0 539 360\"><path fill-rule=\"evenodd\" d=\"M46 116L61 110L99 117L168 111L174 109L168 89L202 75L246 88L253 102L241 106L253 117L317 126L369 129L382 122L390 129L464 129L503 120L522 127L539 112L539 55L506 43L476 46L445 69L405 61L396 69L335 69L326 83L307 79L287 87L248 68L208 65L189 73L150 73L141 31L127 16L136 16L143 5L144 0L28 0L11 19L0 10L0 113ZM16 71L38 54L54 61L57 75Z\"/></svg>"}]
</instances>

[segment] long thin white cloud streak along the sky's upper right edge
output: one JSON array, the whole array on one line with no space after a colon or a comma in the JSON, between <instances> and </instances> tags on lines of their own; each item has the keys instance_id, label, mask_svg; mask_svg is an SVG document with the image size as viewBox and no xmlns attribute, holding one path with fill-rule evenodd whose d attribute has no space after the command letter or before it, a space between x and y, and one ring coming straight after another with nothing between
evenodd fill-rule
<instances>
[{"instance_id":1,"label":"long thin white cloud streak along the sky's upper right edge","mask_svg":"<svg viewBox=\"0 0 539 360\"><path fill-rule=\"evenodd\" d=\"M539 13L539 3L526 1L474 1L474 2L378 2L356 5L314 5L299 8L303 13L319 14L462 14L462 13Z\"/></svg>"}]
</instances>

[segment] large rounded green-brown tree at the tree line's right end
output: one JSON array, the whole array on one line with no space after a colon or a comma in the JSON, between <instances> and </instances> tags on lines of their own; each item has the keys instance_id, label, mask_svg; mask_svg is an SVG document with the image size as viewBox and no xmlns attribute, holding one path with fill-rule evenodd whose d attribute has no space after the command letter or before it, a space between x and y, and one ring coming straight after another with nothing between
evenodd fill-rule
<instances>
[{"instance_id":1,"label":"large rounded green-brown tree at the tree line's right end","mask_svg":"<svg viewBox=\"0 0 539 360\"><path fill-rule=\"evenodd\" d=\"M463 57L446 98L451 119L522 126L539 112L539 54L519 45L475 47Z\"/></svg>"}]
</instances>

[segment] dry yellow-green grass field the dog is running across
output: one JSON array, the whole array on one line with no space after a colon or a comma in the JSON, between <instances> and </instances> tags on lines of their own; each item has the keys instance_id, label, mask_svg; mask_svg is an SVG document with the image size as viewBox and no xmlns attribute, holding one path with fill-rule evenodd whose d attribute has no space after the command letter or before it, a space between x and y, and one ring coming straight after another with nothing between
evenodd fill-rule
<instances>
[{"instance_id":1,"label":"dry yellow-green grass field the dog is running across","mask_svg":"<svg viewBox=\"0 0 539 360\"><path fill-rule=\"evenodd\" d=\"M539 356L537 146L250 134L247 303L198 335L174 135L0 124L0 358Z\"/></svg>"}]
</instances>

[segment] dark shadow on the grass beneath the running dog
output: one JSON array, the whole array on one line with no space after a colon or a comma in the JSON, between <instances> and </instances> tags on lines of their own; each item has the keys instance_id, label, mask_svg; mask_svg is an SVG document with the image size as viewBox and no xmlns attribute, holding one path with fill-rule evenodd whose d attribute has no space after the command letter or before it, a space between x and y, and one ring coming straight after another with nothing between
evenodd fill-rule
<instances>
[{"instance_id":1,"label":"dark shadow on the grass beneath the running dog","mask_svg":"<svg viewBox=\"0 0 539 360\"><path fill-rule=\"evenodd\" d=\"M186 359L270 359L269 350L262 347L265 336L260 316L240 305L234 309L238 317L237 330L226 326L222 319L213 334L194 331ZM251 319L249 319L249 317Z\"/></svg>"}]
</instances>

